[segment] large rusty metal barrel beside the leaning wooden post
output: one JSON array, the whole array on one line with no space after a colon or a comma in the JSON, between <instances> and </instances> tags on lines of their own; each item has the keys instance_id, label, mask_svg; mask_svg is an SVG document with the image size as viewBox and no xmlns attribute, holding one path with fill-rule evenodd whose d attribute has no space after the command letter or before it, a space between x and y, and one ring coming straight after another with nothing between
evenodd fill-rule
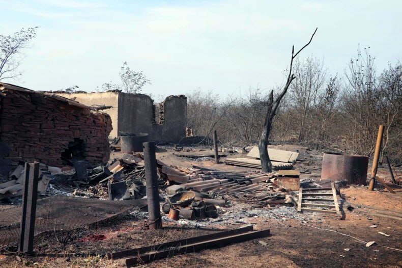
<instances>
[{"instance_id":1,"label":"large rusty metal barrel beside the leaning wooden post","mask_svg":"<svg viewBox=\"0 0 402 268\"><path fill-rule=\"evenodd\" d=\"M367 184L368 156L326 152L321 179L348 180L349 184Z\"/></svg>"}]
</instances>

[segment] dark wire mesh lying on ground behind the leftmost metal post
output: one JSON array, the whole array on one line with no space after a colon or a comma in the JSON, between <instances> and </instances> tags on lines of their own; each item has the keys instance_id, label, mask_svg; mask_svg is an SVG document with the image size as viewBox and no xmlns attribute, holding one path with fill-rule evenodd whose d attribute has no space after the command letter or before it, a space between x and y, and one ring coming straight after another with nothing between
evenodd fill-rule
<instances>
[{"instance_id":1,"label":"dark wire mesh lying on ground behind the leftmost metal post","mask_svg":"<svg viewBox=\"0 0 402 268\"><path fill-rule=\"evenodd\" d=\"M37 201L35 235L93 224L129 209L142 208L147 199L111 201L56 195ZM0 211L0 251L18 244L22 207Z\"/></svg>"}]
</instances>

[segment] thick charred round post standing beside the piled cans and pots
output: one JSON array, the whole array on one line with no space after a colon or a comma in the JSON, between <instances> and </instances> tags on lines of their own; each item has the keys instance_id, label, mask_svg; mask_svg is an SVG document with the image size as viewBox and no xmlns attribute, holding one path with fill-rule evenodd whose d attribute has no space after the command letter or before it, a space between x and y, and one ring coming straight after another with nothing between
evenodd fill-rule
<instances>
[{"instance_id":1,"label":"thick charred round post standing beside the piled cans and pots","mask_svg":"<svg viewBox=\"0 0 402 268\"><path fill-rule=\"evenodd\" d=\"M159 194L158 194L158 175L156 171L156 156L154 142L145 142L143 145L145 162L145 179L147 182L147 201L149 213L149 227L151 229L161 229L162 219L160 216Z\"/></svg>"}]
</instances>

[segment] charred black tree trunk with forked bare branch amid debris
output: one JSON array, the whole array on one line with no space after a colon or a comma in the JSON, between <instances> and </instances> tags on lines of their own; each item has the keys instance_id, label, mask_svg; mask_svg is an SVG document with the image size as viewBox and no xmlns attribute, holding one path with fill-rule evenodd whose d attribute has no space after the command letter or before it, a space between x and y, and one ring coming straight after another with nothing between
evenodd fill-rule
<instances>
[{"instance_id":1,"label":"charred black tree trunk with forked bare branch amid debris","mask_svg":"<svg viewBox=\"0 0 402 268\"><path fill-rule=\"evenodd\" d=\"M260 159L261 159L261 167L263 172L271 172L272 171L272 164L271 160L269 158L268 154L268 139L269 139L269 133L271 131L272 127L272 120L274 119L276 115L276 111L278 110L280 101L282 100L283 96L286 94L288 91L289 86L292 84L292 81L296 78L296 76L292 72L292 65L293 65L293 60L297 57L297 55L302 51L306 46L308 46L311 43L312 38L315 35L315 32L317 32L318 28L315 28L314 33L311 35L310 41L308 41L307 44L305 44L302 48L300 48L299 51L294 53L295 51L295 46L292 46L292 58L291 58L291 65L289 68L289 75L288 79L286 80L286 84L283 87L282 92L279 94L279 96L276 98L274 102L274 91L272 90L270 95L269 95L269 100L267 103L267 114L265 116L265 122L264 122L264 127L263 127L263 132L260 138L259 142L259 150L260 150Z\"/></svg>"}]
</instances>

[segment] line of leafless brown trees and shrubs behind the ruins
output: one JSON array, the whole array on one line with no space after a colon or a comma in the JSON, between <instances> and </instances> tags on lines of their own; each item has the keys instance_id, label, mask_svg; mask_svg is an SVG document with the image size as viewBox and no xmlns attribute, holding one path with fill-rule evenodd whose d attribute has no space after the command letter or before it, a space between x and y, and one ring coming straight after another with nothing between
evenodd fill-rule
<instances>
[{"instance_id":1,"label":"line of leafless brown trees and shrubs behind the ruins","mask_svg":"<svg viewBox=\"0 0 402 268\"><path fill-rule=\"evenodd\" d=\"M272 122L271 143L371 155L383 124L383 155L402 159L399 61L379 72L367 47L357 50L343 74L329 74L323 61L312 56L296 60L293 73L296 78ZM194 135L211 136L216 129L223 143L259 143L269 102L266 91L249 89L243 96L221 100L213 92L195 90L187 97L187 125Z\"/></svg>"}]
</instances>

